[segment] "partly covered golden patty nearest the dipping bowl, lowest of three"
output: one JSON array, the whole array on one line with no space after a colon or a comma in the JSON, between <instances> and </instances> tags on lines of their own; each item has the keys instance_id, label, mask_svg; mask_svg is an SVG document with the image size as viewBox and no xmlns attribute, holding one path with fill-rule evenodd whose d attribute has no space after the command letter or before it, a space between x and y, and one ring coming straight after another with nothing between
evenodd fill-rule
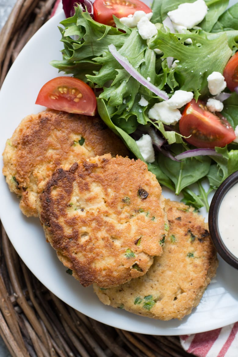
<instances>
[{"instance_id":1,"label":"partly covered golden patty nearest the dipping bowl, lowest of three","mask_svg":"<svg viewBox=\"0 0 238 357\"><path fill-rule=\"evenodd\" d=\"M166 200L168 237L146 275L94 290L106 305L159 320L182 319L197 306L218 265L207 224L193 208Z\"/></svg>"}]
</instances>

